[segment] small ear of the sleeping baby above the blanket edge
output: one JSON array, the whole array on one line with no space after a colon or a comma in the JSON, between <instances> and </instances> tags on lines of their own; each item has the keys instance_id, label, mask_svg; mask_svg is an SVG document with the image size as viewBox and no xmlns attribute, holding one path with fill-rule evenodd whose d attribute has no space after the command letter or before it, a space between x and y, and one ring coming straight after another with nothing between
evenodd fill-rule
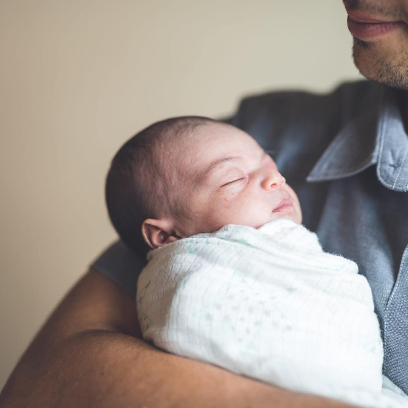
<instances>
[{"instance_id":1,"label":"small ear of the sleeping baby above the blanket edge","mask_svg":"<svg viewBox=\"0 0 408 408\"><path fill-rule=\"evenodd\" d=\"M144 220L142 224L142 235L146 244L152 249L170 244L171 242L182 238L175 233L174 224L172 220L169 220L168 218L161 220L148 218L147 220Z\"/></svg>"}]
</instances>

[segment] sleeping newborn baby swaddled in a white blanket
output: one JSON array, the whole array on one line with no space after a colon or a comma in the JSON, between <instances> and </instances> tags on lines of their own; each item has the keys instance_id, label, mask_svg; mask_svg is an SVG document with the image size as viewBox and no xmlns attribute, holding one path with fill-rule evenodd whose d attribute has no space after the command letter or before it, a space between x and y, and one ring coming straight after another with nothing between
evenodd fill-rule
<instances>
[{"instance_id":1,"label":"sleeping newborn baby swaddled in a white blanket","mask_svg":"<svg viewBox=\"0 0 408 408\"><path fill-rule=\"evenodd\" d=\"M295 192L247 133L157 122L115 155L106 203L123 241L151 249L137 284L144 339L293 391L408 406L381 375L366 278L302 226Z\"/></svg>"}]
</instances>

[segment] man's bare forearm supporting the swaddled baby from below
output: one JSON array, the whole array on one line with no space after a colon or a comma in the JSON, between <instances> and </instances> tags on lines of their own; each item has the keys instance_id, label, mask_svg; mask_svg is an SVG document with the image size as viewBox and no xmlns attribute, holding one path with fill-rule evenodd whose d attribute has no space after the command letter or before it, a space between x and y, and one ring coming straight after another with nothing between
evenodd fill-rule
<instances>
[{"instance_id":1,"label":"man's bare forearm supporting the swaddled baby from below","mask_svg":"<svg viewBox=\"0 0 408 408\"><path fill-rule=\"evenodd\" d=\"M78 333L17 367L0 397L13 407L346 407L163 353L121 333Z\"/></svg>"}]
</instances>

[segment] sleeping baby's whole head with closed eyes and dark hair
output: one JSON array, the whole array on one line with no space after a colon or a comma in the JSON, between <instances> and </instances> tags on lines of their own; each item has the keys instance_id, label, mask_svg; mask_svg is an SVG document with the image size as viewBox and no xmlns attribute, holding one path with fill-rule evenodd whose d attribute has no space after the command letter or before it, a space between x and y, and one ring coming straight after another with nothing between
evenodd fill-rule
<instances>
[{"instance_id":1,"label":"sleeping baby's whole head with closed eyes and dark hair","mask_svg":"<svg viewBox=\"0 0 408 408\"><path fill-rule=\"evenodd\" d=\"M157 122L126 142L106 178L106 204L122 240L142 254L227 224L302 222L295 192L253 137L196 116Z\"/></svg>"}]
</instances>

